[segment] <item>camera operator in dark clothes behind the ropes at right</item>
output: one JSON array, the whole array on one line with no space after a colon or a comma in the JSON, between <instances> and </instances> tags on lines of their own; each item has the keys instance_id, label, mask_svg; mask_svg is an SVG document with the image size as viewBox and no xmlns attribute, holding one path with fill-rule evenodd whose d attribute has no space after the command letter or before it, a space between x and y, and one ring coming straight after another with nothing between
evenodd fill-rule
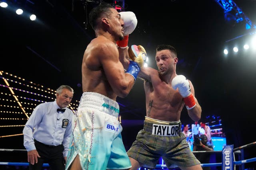
<instances>
[{"instance_id":1,"label":"camera operator in dark clothes behind the ropes at right","mask_svg":"<svg viewBox=\"0 0 256 170\"><path fill-rule=\"evenodd\" d=\"M201 139L201 140L200 140ZM213 147L207 145L206 135L200 135L194 139L193 151L212 151ZM209 153L194 153L196 158L201 162L201 164L210 163L210 154ZM210 170L211 167L202 167L203 170Z\"/></svg>"}]
</instances>

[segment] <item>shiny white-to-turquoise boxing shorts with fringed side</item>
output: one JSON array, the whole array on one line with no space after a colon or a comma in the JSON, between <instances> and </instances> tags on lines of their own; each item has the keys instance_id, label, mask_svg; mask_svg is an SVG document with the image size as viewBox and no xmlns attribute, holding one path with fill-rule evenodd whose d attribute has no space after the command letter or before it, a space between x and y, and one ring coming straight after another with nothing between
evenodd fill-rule
<instances>
[{"instance_id":1,"label":"shiny white-to-turquoise boxing shorts with fringed side","mask_svg":"<svg viewBox=\"0 0 256 170\"><path fill-rule=\"evenodd\" d=\"M84 170L130 168L117 120L118 103L102 94L84 92L76 116L66 167L79 155ZM118 158L118 159L117 159Z\"/></svg>"}]
</instances>

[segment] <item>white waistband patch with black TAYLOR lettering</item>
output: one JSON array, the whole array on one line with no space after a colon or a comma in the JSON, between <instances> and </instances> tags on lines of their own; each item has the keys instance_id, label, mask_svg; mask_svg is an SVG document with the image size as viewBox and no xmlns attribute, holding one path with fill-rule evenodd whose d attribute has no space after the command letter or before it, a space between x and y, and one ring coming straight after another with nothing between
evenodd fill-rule
<instances>
[{"instance_id":1,"label":"white waistband patch with black TAYLOR lettering","mask_svg":"<svg viewBox=\"0 0 256 170\"><path fill-rule=\"evenodd\" d=\"M153 124L152 135L158 136L178 136L179 125L158 125Z\"/></svg>"}]
</instances>

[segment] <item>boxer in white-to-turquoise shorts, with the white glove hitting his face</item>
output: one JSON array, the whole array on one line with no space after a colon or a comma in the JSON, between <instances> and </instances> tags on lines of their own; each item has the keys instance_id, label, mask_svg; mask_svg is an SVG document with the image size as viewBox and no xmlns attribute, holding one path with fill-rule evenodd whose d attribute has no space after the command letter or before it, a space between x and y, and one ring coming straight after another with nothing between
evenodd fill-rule
<instances>
[{"instance_id":1,"label":"boxer in white-to-turquoise shorts, with the white glove hitting his face","mask_svg":"<svg viewBox=\"0 0 256 170\"><path fill-rule=\"evenodd\" d=\"M139 51L134 61L128 60L128 35L137 24L133 12L119 13L110 4L100 4L90 11L89 22L96 37L84 51L83 95L73 119L66 170L128 169L131 164L122 143L116 98L129 94L146 52ZM125 53L120 53L121 47ZM127 63L126 69L121 61Z\"/></svg>"}]
</instances>

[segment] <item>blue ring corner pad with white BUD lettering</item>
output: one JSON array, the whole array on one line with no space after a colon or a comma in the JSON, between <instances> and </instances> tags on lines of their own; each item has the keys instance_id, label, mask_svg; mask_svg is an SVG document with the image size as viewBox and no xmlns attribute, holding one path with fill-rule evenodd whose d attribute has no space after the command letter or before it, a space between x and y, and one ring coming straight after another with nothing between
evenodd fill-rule
<instances>
[{"instance_id":1,"label":"blue ring corner pad with white BUD lettering","mask_svg":"<svg viewBox=\"0 0 256 170\"><path fill-rule=\"evenodd\" d=\"M234 170L234 145L226 145L222 149L222 170Z\"/></svg>"}]
</instances>

